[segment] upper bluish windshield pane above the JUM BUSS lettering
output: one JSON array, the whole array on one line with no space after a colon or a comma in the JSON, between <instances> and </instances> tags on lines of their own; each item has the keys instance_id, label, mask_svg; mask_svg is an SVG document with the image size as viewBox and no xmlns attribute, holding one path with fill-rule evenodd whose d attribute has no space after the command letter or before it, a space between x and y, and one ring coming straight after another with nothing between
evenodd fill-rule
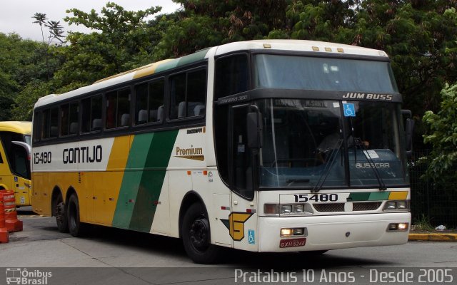
<instances>
[{"instance_id":1,"label":"upper bluish windshield pane above the JUM BUSS lettering","mask_svg":"<svg viewBox=\"0 0 457 285\"><path fill-rule=\"evenodd\" d=\"M258 54L254 63L256 88L398 93L387 61Z\"/></svg>"}]
</instances>

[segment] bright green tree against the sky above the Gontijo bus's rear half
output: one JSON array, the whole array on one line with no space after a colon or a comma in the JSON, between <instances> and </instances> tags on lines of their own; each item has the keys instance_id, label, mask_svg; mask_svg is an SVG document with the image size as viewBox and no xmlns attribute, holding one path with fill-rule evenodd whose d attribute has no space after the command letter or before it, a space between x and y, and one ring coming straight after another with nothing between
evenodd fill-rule
<instances>
[{"instance_id":1,"label":"bright green tree against the sky above the Gontijo bus's rear half","mask_svg":"<svg viewBox=\"0 0 457 285\"><path fill-rule=\"evenodd\" d=\"M69 9L64 21L84 25L97 32L69 33L69 46L61 49L65 63L55 75L56 86L74 83L83 85L127 71L152 58L157 32L148 26L144 19L156 14L161 7L151 7L144 11L126 11L123 7L108 2L101 14L93 9L86 13L79 9ZM151 39L154 41L151 42Z\"/></svg>"}]
</instances>

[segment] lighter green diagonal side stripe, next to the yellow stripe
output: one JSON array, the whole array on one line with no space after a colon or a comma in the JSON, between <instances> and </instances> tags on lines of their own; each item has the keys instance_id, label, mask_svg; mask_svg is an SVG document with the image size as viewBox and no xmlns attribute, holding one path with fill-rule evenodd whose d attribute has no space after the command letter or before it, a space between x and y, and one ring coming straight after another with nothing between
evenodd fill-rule
<instances>
[{"instance_id":1,"label":"lighter green diagonal side stripe, next to the yellow stripe","mask_svg":"<svg viewBox=\"0 0 457 285\"><path fill-rule=\"evenodd\" d=\"M152 138L154 138L154 133L135 135L134 137L117 199L113 227L129 228Z\"/></svg>"}]
</instances>

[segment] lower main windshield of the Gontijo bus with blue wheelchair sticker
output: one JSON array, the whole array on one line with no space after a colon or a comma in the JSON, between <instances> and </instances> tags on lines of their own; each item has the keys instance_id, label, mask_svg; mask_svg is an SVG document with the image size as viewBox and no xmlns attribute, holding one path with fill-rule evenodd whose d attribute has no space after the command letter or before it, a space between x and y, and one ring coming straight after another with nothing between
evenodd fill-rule
<instances>
[{"instance_id":1,"label":"lower main windshield of the Gontijo bus with blue wheelchair sticker","mask_svg":"<svg viewBox=\"0 0 457 285\"><path fill-rule=\"evenodd\" d=\"M396 103L258 100L263 116L260 187L406 185L401 110ZM343 108L351 104L354 114Z\"/></svg>"}]
</instances>

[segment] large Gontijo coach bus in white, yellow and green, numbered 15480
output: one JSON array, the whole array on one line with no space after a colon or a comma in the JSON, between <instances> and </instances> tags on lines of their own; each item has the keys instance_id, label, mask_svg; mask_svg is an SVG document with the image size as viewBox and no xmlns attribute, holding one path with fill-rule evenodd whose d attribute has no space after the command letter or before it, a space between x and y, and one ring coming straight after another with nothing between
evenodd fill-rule
<instances>
[{"instance_id":1,"label":"large Gontijo coach bus in white, yellow and green, numbered 15480","mask_svg":"<svg viewBox=\"0 0 457 285\"><path fill-rule=\"evenodd\" d=\"M383 51L246 41L160 61L34 108L34 211L220 247L403 244L401 95Z\"/></svg>"}]
</instances>

